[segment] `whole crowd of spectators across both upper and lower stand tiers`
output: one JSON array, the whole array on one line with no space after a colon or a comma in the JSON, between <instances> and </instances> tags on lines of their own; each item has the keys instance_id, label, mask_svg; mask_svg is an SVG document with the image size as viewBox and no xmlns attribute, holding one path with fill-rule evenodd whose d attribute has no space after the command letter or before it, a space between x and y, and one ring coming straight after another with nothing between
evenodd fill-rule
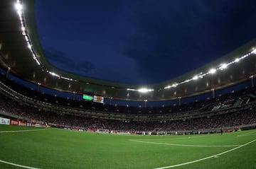
<instances>
[{"instance_id":1,"label":"whole crowd of spectators across both upper and lower stand tiers","mask_svg":"<svg viewBox=\"0 0 256 169\"><path fill-rule=\"evenodd\" d=\"M21 102L14 101L11 97L0 94L0 115L1 112L7 112L9 115L16 115L21 120L29 120L32 122L47 122L55 127L80 128L90 131L96 129L108 129L114 131L187 131L200 129L216 129L220 127L233 127L244 124L256 123L256 104L255 104L255 88L245 88L245 90L228 93L220 97L208 100L199 100L196 103L187 103L184 105L161 106L161 107L127 107L117 105L102 105L98 103L90 103L81 100L70 100L60 98L56 95L46 95L39 93L23 86L18 85L9 79L1 77L1 81L14 88L14 91L26 95L33 100L39 100L51 105L70 107L73 109L87 109L100 112L112 112L127 114L173 114L179 112L190 113L191 110L201 112L217 111L220 113L207 114L202 117L184 118L182 120L161 120L161 121L136 121L136 120L106 120L104 118L86 117L80 114L65 114L63 112L51 112L43 110L40 107L35 108L29 105L23 105ZM9 95L10 96L10 95ZM235 109L241 104L245 104L244 109L237 111L225 112L228 109ZM250 106L249 106L250 105ZM117 111L118 110L118 111Z\"/></svg>"}]
</instances>

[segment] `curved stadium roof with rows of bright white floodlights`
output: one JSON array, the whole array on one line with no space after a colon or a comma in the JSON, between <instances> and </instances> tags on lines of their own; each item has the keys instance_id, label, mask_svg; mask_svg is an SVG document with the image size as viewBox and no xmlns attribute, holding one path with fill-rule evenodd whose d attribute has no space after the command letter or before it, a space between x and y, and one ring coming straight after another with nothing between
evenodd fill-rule
<instances>
[{"instance_id":1,"label":"curved stadium roof with rows of bright white floodlights","mask_svg":"<svg viewBox=\"0 0 256 169\"><path fill-rule=\"evenodd\" d=\"M256 40L183 76L151 85L115 83L61 70L48 62L38 38L33 1L0 2L0 66L46 88L120 100L172 100L247 81L256 73ZM184 65L186 66L186 65Z\"/></svg>"}]
</instances>

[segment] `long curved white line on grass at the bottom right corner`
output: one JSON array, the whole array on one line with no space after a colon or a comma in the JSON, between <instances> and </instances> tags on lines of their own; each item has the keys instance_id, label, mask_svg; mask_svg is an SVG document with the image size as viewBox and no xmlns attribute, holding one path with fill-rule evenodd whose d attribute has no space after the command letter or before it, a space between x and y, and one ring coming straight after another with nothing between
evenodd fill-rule
<instances>
[{"instance_id":1,"label":"long curved white line on grass at the bottom right corner","mask_svg":"<svg viewBox=\"0 0 256 169\"><path fill-rule=\"evenodd\" d=\"M236 150L236 149L238 149L238 148L241 148L241 147L243 147L243 146L247 146L248 144L251 144L251 143L253 143L254 141L256 141L256 139L254 139L254 140L252 140L252 141L250 141L250 142L247 142L246 144L242 144L241 146L232 148L232 149L230 149L230 150L228 150L228 151L224 151L224 152L222 152L222 153L218 153L218 154L215 154L215 155L213 155L213 156L208 156L208 157L206 157L206 158L201 158L201 159L198 159L198 160L196 160L196 161L188 161L188 162L186 162L186 163L181 163L181 164L176 164L176 165L169 165L169 166L166 166L166 167L154 168L154 169L174 168L174 167L178 167L178 166L181 166L181 165L188 165L188 164L191 164L191 163L197 163L197 162L199 162L199 161L205 161L205 160L207 160L207 159L209 159L209 158L213 158L213 157L216 157L216 156L221 156L221 155L223 155L223 154L225 154L225 153L229 153L229 152L234 151L234 150Z\"/></svg>"}]
</instances>

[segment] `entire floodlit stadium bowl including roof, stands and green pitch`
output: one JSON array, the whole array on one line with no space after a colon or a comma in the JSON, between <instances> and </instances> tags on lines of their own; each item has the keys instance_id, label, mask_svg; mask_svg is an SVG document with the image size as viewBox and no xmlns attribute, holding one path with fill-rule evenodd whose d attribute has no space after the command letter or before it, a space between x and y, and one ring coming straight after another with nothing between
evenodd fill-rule
<instances>
[{"instance_id":1,"label":"entire floodlit stadium bowl including roof, stands and green pitch","mask_svg":"<svg viewBox=\"0 0 256 169\"><path fill-rule=\"evenodd\" d=\"M0 2L0 168L255 168L256 40L167 81L119 83L50 64L34 3Z\"/></svg>"}]
</instances>

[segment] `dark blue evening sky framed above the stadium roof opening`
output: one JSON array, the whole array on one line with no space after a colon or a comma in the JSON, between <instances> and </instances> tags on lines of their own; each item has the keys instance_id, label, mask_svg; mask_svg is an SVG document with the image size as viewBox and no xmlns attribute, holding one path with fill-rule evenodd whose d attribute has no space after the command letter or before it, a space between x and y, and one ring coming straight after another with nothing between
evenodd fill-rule
<instances>
[{"instance_id":1,"label":"dark blue evening sky framed above the stadium roof opening","mask_svg":"<svg viewBox=\"0 0 256 169\"><path fill-rule=\"evenodd\" d=\"M256 37L255 0L36 0L49 62L149 84L181 76Z\"/></svg>"}]
</instances>

